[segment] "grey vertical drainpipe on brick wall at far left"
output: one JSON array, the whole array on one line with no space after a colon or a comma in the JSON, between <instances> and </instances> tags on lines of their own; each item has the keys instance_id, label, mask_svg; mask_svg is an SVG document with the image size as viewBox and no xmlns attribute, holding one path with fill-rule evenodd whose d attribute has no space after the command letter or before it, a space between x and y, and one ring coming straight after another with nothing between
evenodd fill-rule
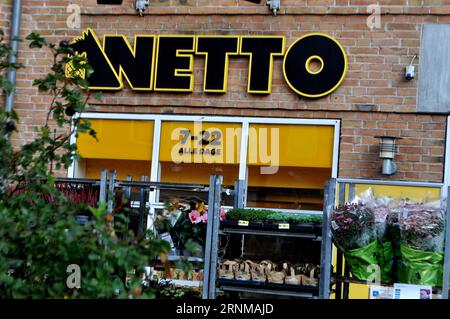
<instances>
[{"instance_id":1,"label":"grey vertical drainpipe on brick wall at far left","mask_svg":"<svg viewBox=\"0 0 450 319\"><path fill-rule=\"evenodd\" d=\"M11 38L10 46L13 51L8 57L9 63L16 63L17 52L19 51L19 41L18 37L20 35L20 16L22 13L22 0L13 1L13 11L11 17ZM8 80L15 87L16 86L16 69L8 69ZM5 110L6 112L11 112L14 108L14 90L6 96Z\"/></svg>"}]
</instances>

